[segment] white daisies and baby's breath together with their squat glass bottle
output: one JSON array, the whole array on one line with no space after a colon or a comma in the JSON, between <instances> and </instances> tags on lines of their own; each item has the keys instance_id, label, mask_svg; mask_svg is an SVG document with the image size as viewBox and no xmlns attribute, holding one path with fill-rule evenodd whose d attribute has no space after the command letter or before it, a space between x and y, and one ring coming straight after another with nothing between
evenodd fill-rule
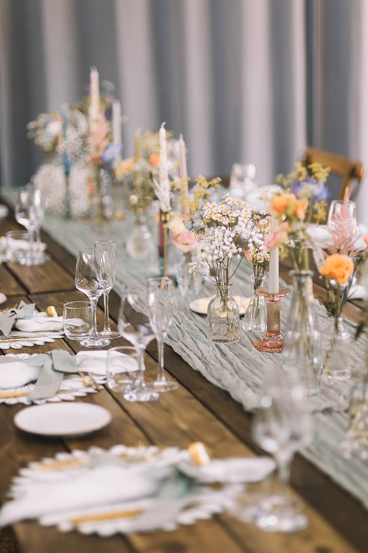
<instances>
[{"instance_id":1,"label":"white daisies and baby's breath together with their squat glass bottle","mask_svg":"<svg viewBox=\"0 0 368 553\"><path fill-rule=\"evenodd\" d=\"M239 305L230 296L231 278L244 257L256 217L247 202L224 196L220 202L207 202L185 223L198 241L189 270L208 274L217 290L207 311L208 338L214 342L239 341Z\"/></svg>"}]
</instances>

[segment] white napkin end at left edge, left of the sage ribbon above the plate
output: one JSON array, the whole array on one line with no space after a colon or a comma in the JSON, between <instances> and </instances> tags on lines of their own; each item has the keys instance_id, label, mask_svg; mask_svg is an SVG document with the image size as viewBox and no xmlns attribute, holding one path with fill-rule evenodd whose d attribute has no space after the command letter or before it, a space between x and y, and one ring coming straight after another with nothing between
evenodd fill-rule
<instances>
[{"instance_id":1,"label":"white napkin end at left edge, left of the sage ribbon above the plate","mask_svg":"<svg viewBox=\"0 0 368 553\"><path fill-rule=\"evenodd\" d=\"M36 353L26 359L12 355L1 356L0 388L19 388L37 380L45 361L45 353Z\"/></svg>"}]
</instances>

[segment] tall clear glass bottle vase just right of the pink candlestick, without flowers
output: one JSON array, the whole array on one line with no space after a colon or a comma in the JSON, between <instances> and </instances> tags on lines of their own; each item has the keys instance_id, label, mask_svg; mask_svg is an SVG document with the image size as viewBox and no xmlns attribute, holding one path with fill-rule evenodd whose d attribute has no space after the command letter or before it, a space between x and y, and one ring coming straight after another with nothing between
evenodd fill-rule
<instances>
[{"instance_id":1,"label":"tall clear glass bottle vase just right of the pink candlestick, without flowers","mask_svg":"<svg viewBox=\"0 0 368 553\"><path fill-rule=\"evenodd\" d=\"M321 371L320 333L315 314L312 272L291 272L292 304L284 332L283 359L287 368L298 372L307 395L319 393Z\"/></svg>"}]
</instances>

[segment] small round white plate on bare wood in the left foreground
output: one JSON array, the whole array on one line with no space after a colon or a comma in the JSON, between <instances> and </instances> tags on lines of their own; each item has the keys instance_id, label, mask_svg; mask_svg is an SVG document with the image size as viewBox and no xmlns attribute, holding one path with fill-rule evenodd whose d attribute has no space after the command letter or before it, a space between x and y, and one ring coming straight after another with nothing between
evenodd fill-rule
<instances>
[{"instance_id":1,"label":"small round white plate on bare wood in the left foreground","mask_svg":"<svg viewBox=\"0 0 368 553\"><path fill-rule=\"evenodd\" d=\"M107 409L91 403L33 405L14 417L20 430L40 436L81 436L100 430L110 421Z\"/></svg>"}]
</instances>

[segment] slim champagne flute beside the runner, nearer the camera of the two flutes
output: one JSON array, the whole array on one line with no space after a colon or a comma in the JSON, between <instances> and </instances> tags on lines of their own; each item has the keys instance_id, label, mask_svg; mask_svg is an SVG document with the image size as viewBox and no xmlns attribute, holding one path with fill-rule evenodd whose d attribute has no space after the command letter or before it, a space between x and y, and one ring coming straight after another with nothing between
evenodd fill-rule
<instances>
[{"instance_id":1,"label":"slim champagne flute beside the runner, nearer the camera of the two flutes","mask_svg":"<svg viewBox=\"0 0 368 553\"><path fill-rule=\"evenodd\" d=\"M171 392L179 386L173 380L167 380L164 373L164 339L173 319L173 281L167 276L147 280L148 316L156 336L158 346L157 379L149 384L157 392Z\"/></svg>"}]
</instances>

